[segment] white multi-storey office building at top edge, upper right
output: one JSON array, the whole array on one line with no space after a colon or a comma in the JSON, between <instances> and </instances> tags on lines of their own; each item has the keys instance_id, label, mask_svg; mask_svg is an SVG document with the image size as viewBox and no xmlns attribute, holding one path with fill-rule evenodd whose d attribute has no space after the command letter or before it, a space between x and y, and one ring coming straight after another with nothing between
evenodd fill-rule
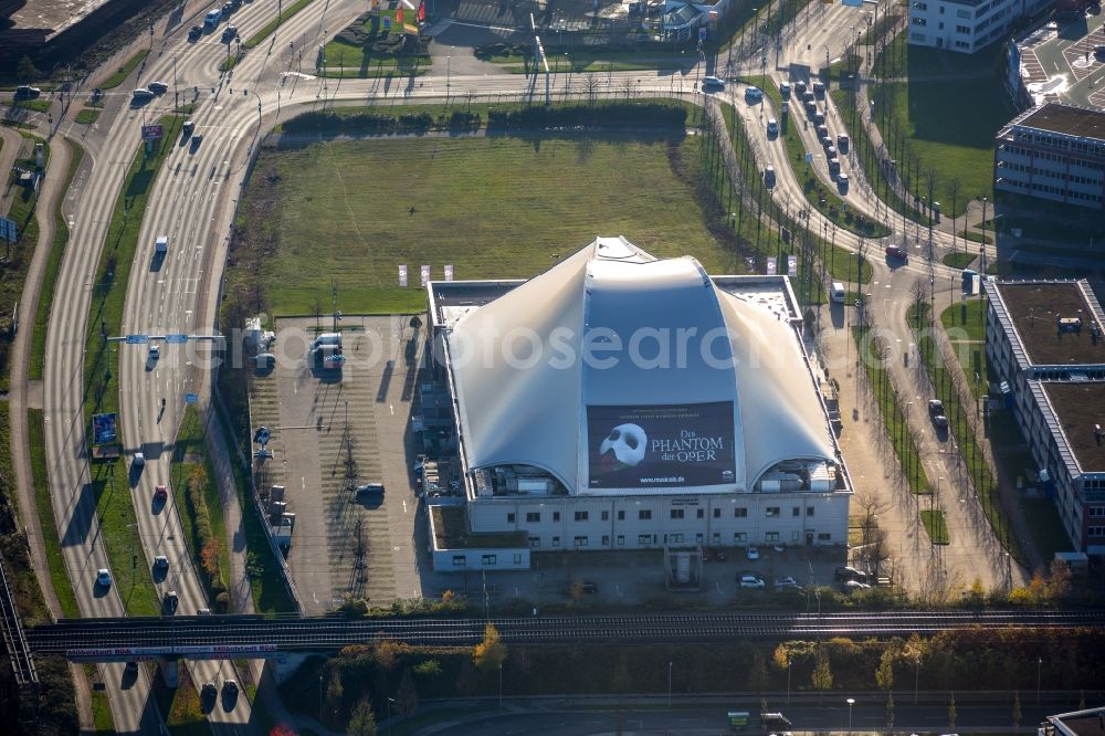
<instances>
[{"instance_id":1,"label":"white multi-storey office building at top edge, upper right","mask_svg":"<svg viewBox=\"0 0 1105 736\"><path fill-rule=\"evenodd\" d=\"M908 41L917 46L971 54L1008 36L1017 19L1032 17L1051 4L1045 0L913 0Z\"/></svg>"}]
</instances>

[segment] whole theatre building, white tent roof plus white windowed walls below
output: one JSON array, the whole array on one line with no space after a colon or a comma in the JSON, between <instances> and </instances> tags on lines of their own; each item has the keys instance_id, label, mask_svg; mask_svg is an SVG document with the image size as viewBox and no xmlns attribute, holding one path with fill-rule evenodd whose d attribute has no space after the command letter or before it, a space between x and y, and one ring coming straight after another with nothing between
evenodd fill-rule
<instances>
[{"instance_id":1,"label":"whole theatre building, white tent roof plus white windowed walls below","mask_svg":"<svg viewBox=\"0 0 1105 736\"><path fill-rule=\"evenodd\" d=\"M541 551L846 544L828 377L786 277L599 238L525 283L429 292L473 534Z\"/></svg>"}]
</instances>

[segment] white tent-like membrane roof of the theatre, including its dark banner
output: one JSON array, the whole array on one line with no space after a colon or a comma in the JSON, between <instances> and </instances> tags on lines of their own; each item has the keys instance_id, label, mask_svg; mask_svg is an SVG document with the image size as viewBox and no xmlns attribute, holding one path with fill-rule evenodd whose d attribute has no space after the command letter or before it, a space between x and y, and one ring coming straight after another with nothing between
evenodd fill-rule
<instances>
[{"instance_id":1,"label":"white tent-like membrane roof of the theatre, including its dark banner","mask_svg":"<svg viewBox=\"0 0 1105 736\"><path fill-rule=\"evenodd\" d=\"M571 494L732 492L835 461L793 327L688 256L598 238L446 345L470 470L532 465Z\"/></svg>"}]
</instances>

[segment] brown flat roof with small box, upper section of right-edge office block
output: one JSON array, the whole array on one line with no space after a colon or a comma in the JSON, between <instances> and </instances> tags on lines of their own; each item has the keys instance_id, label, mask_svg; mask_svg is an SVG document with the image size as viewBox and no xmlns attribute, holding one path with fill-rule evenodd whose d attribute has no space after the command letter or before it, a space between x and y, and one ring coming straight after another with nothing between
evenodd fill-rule
<instances>
[{"instance_id":1,"label":"brown flat roof with small box, upper section of right-edge office block","mask_svg":"<svg viewBox=\"0 0 1105 736\"><path fill-rule=\"evenodd\" d=\"M999 283L998 292L1033 365L1105 362L1105 338L1091 335L1094 312L1076 282ZM1056 318L1077 317L1080 309L1082 329L1060 332Z\"/></svg>"}]
</instances>

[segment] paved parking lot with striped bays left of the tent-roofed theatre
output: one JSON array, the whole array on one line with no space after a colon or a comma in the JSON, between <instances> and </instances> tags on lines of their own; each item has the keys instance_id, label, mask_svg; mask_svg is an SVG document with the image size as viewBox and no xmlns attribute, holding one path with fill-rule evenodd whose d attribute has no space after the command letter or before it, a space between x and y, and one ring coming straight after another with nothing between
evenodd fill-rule
<instances>
[{"instance_id":1,"label":"paved parking lot with striped bays left of the tent-roofed theatre","mask_svg":"<svg viewBox=\"0 0 1105 736\"><path fill-rule=\"evenodd\" d=\"M375 606L419 595L407 441L422 336L398 316L346 317L346 362L325 369L307 353L332 329L329 318L277 320L275 366L256 371L250 390L252 424L272 438L259 486L286 488L295 514L288 565L307 613L347 595ZM386 492L349 491L364 483Z\"/></svg>"}]
</instances>

